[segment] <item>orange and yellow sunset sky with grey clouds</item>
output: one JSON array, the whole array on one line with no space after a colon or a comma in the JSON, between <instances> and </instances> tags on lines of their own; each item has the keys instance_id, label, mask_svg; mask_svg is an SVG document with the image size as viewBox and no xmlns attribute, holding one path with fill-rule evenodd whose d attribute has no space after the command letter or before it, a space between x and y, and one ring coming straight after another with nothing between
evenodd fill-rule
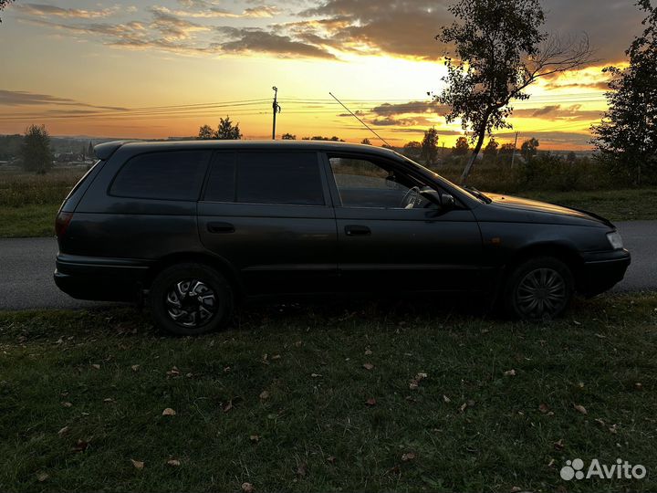
<instances>
[{"instance_id":1,"label":"orange and yellow sunset sky with grey clouds","mask_svg":"<svg viewBox=\"0 0 657 493\"><path fill-rule=\"evenodd\" d=\"M446 125L427 97L442 89L452 0L18 0L0 14L0 133L45 123L53 135L195 135L230 115L247 139L277 134L376 141L333 92L393 145ZM516 102L512 123L541 149L586 149L605 109L601 68L624 61L641 32L632 0L544 0L547 31L580 35L597 61L542 80ZM511 139L500 132L498 141Z\"/></svg>"}]
</instances>

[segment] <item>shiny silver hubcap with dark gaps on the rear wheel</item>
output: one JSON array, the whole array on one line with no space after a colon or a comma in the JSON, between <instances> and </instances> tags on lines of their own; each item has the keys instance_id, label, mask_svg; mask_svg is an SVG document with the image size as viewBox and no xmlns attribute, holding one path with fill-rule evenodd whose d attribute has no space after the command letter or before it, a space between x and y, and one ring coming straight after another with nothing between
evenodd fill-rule
<instances>
[{"instance_id":1,"label":"shiny silver hubcap with dark gaps on the rear wheel","mask_svg":"<svg viewBox=\"0 0 657 493\"><path fill-rule=\"evenodd\" d=\"M173 284L165 303L167 313L175 323L191 328L208 322L214 317L217 309L214 291L198 279Z\"/></svg>"}]
</instances>

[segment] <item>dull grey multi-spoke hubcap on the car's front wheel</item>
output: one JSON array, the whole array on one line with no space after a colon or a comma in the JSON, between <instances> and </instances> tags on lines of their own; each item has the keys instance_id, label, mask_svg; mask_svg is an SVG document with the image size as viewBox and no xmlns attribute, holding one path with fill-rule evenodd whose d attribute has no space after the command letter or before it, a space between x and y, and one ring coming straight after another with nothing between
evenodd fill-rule
<instances>
[{"instance_id":1,"label":"dull grey multi-spoke hubcap on the car's front wheel","mask_svg":"<svg viewBox=\"0 0 657 493\"><path fill-rule=\"evenodd\" d=\"M525 276L516 289L516 305L528 318L554 316L566 302L566 281L552 268L537 268Z\"/></svg>"}]
</instances>

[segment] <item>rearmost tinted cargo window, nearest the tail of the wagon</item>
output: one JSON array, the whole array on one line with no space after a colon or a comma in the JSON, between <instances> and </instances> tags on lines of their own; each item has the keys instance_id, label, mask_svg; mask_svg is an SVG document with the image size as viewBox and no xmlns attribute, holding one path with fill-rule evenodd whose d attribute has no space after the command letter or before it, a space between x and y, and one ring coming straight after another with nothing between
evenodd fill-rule
<instances>
[{"instance_id":1,"label":"rearmost tinted cargo window, nearest the tail of the wagon","mask_svg":"<svg viewBox=\"0 0 657 493\"><path fill-rule=\"evenodd\" d=\"M210 151L151 152L133 157L120 169L110 194L161 200L196 200Z\"/></svg>"}]
</instances>

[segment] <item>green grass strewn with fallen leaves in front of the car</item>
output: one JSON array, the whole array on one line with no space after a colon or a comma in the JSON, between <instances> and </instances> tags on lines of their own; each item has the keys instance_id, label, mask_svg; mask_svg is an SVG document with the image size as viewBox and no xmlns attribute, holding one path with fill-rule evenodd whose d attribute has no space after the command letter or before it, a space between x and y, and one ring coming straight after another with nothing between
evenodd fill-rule
<instances>
[{"instance_id":1,"label":"green grass strewn with fallen leaves in front of the car","mask_svg":"<svg viewBox=\"0 0 657 493\"><path fill-rule=\"evenodd\" d=\"M0 490L654 491L656 306L609 296L537 325L252 307L195 339L132 309L0 312ZM576 457L648 476L566 483Z\"/></svg>"}]
</instances>

